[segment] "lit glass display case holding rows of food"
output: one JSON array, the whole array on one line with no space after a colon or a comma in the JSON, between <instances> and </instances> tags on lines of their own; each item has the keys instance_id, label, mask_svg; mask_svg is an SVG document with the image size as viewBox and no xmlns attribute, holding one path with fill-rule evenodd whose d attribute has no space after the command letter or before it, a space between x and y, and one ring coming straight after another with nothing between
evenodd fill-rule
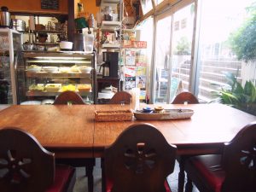
<instances>
[{"instance_id":1,"label":"lit glass display case holding rows of food","mask_svg":"<svg viewBox=\"0 0 256 192\"><path fill-rule=\"evenodd\" d=\"M96 102L94 53L25 52L24 59L26 83L20 104L51 104L66 90L78 92L88 104Z\"/></svg>"}]
</instances>

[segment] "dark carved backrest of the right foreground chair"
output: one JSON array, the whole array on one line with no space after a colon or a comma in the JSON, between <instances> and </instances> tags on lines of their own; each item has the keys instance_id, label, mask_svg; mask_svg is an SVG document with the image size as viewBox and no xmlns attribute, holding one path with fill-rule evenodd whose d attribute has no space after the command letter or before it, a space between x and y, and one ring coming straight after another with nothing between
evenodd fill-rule
<instances>
[{"instance_id":1,"label":"dark carved backrest of the right foreground chair","mask_svg":"<svg viewBox=\"0 0 256 192\"><path fill-rule=\"evenodd\" d=\"M222 191L256 191L256 121L224 144Z\"/></svg>"}]
</instances>

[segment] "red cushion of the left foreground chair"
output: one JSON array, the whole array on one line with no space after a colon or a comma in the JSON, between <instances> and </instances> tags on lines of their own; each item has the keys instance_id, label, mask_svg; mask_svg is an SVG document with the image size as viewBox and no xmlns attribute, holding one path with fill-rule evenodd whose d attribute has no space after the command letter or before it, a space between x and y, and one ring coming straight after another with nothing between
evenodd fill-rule
<instances>
[{"instance_id":1,"label":"red cushion of the left foreground chair","mask_svg":"<svg viewBox=\"0 0 256 192\"><path fill-rule=\"evenodd\" d=\"M67 189L67 184L73 177L74 168L72 166L56 165L55 166L55 183L46 190L46 192L61 192Z\"/></svg>"}]
</instances>

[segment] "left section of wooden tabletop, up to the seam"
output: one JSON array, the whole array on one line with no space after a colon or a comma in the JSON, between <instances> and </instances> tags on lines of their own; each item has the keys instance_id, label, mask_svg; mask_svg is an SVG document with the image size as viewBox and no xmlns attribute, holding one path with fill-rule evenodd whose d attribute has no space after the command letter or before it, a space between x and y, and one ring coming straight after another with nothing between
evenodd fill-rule
<instances>
[{"instance_id":1,"label":"left section of wooden tabletop, up to the seam","mask_svg":"<svg viewBox=\"0 0 256 192\"><path fill-rule=\"evenodd\" d=\"M0 129L15 126L28 131L56 158L93 157L92 105L15 105L0 112Z\"/></svg>"}]
</instances>

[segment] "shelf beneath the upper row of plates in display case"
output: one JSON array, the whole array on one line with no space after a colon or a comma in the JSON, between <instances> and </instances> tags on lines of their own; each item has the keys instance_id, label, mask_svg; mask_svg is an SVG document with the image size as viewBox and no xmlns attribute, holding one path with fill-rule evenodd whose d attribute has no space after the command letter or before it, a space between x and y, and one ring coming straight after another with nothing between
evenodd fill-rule
<instances>
[{"instance_id":1,"label":"shelf beneath the upper row of plates in display case","mask_svg":"<svg viewBox=\"0 0 256 192\"><path fill-rule=\"evenodd\" d=\"M26 72L27 78L86 78L91 79L90 73L30 73Z\"/></svg>"}]
</instances>

